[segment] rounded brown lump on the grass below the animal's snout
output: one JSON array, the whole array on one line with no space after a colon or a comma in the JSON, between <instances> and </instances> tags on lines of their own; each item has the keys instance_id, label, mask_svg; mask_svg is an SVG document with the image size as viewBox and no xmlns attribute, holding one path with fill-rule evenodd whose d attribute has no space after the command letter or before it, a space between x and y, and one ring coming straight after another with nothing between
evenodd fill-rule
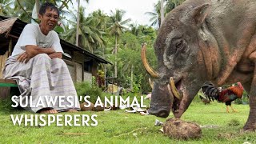
<instances>
[{"instance_id":1,"label":"rounded brown lump on the grass below the animal's snout","mask_svg":"<svg viewBox=\"0 0 256 144\"><path fill-rule=\"evenodd\" d=\"M163 125L163 131L170 138L186 140L202 137L202 130L198 124L185 122L179 118L167 119Z\"/></svg>"}]
</instances>

